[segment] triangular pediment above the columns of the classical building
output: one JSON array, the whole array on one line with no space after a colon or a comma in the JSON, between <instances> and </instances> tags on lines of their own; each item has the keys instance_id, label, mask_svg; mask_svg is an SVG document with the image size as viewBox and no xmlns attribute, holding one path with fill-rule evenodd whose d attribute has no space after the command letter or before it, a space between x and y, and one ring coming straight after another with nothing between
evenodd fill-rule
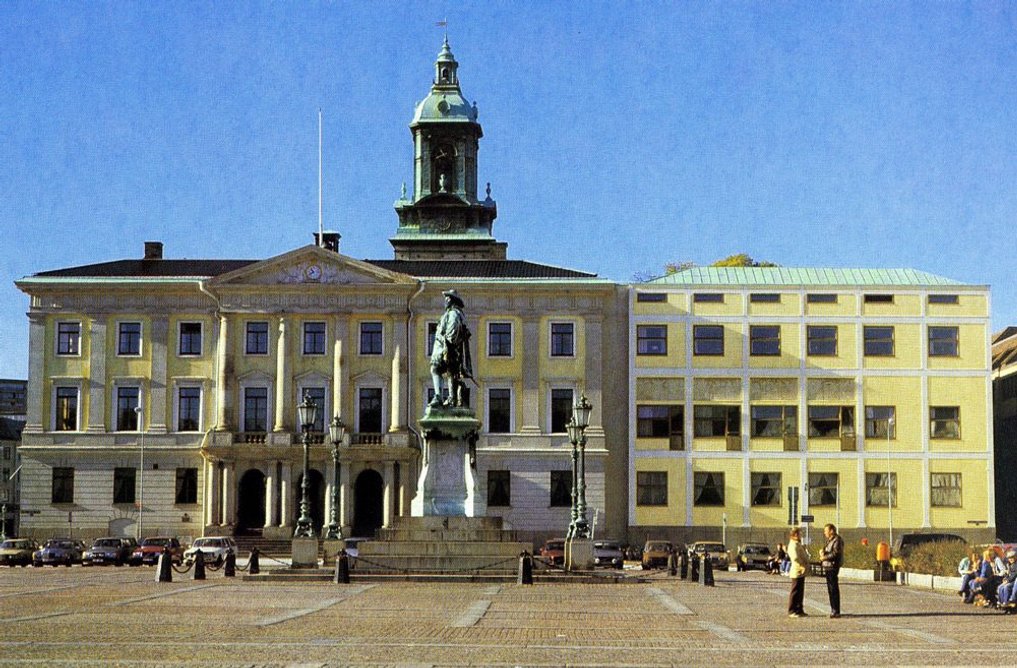
<instances>
[{"instance_id":1,"label":"triangular pediment above the columns of the classical building","mask_svg":"<svg viewBox=\"0 0 1017 668\"><path fill-rule=\"evenodd\" d=\"M229 286L367 285L414 283L405 274L310 245L223 274L212 283Z\"/></svg>"}]
</instances>

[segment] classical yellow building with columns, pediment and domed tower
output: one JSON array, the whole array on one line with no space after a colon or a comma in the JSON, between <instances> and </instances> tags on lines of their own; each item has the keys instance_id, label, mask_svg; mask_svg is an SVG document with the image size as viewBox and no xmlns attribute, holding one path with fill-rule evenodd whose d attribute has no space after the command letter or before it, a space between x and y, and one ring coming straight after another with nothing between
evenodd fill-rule
<instances>
[{"instance_id":1,"label":"classical yellow building with columns, pediment and domed tower","mask_svg":"<svg viewBox=\"0 0 1017 668\"><path fill-rule=\"evenodd\" d=\"M351 432L337 488L346 535L410 514L431 336L441 291L455 287L483 421L473 512L503 517L521 537L564 532L564 425L583 391L594 406L591 513L623 532L624 291L506 258L489 187L478 195L477 118L445 43L410 125L414 183L396 203L392 259L342 255L336 233L264 260L169 259L149 242L140 259L18 281L31 296L23 531L288 537L305 393L322 409L308 476L315 525L331 514L334 415Z\"/></svg>"}]
</instances>

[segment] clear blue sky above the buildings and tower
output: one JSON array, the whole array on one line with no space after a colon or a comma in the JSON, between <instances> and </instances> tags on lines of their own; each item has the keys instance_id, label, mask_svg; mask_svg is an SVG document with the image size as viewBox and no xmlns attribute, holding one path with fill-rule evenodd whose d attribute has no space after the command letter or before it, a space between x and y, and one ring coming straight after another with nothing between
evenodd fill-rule
<instances>
[{"instance_id":1,"label":"clear blue sky above the buildings and tower","mask_svg":"<svg viewBox=\"0 0 1017 668\"><path fill-rule=\"evenodd\" d=\"M325 227L391 258L442 18L511 257L909 266L1017 323L1017 3L4 2L0 377L18 278L309 243L318 108Z\"/></svg>"}]
</instances>

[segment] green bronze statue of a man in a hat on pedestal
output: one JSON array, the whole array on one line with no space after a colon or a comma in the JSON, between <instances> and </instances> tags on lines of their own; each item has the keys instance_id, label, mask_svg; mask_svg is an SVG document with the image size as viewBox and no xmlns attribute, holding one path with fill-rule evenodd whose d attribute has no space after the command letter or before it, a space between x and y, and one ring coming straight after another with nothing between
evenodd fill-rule
<instances>
[{"instance_id":1,"label":"green bronze statue of a man in a hat on pedestal","mask_svg":"<svg viewBox=\"0 0 1017 668\"><path fill-rule=\"evenodd\" d=\"M465 378L473 377L473 359L470 357L470 328L463 314L463 300L455 289L441 293L445 298L445 312L438 320L431 349L431 378L434 381L434 399L431 407L463 406ZM447 378L448 399L442 401L441 381Z\"/></svg>"}]
</instances>

